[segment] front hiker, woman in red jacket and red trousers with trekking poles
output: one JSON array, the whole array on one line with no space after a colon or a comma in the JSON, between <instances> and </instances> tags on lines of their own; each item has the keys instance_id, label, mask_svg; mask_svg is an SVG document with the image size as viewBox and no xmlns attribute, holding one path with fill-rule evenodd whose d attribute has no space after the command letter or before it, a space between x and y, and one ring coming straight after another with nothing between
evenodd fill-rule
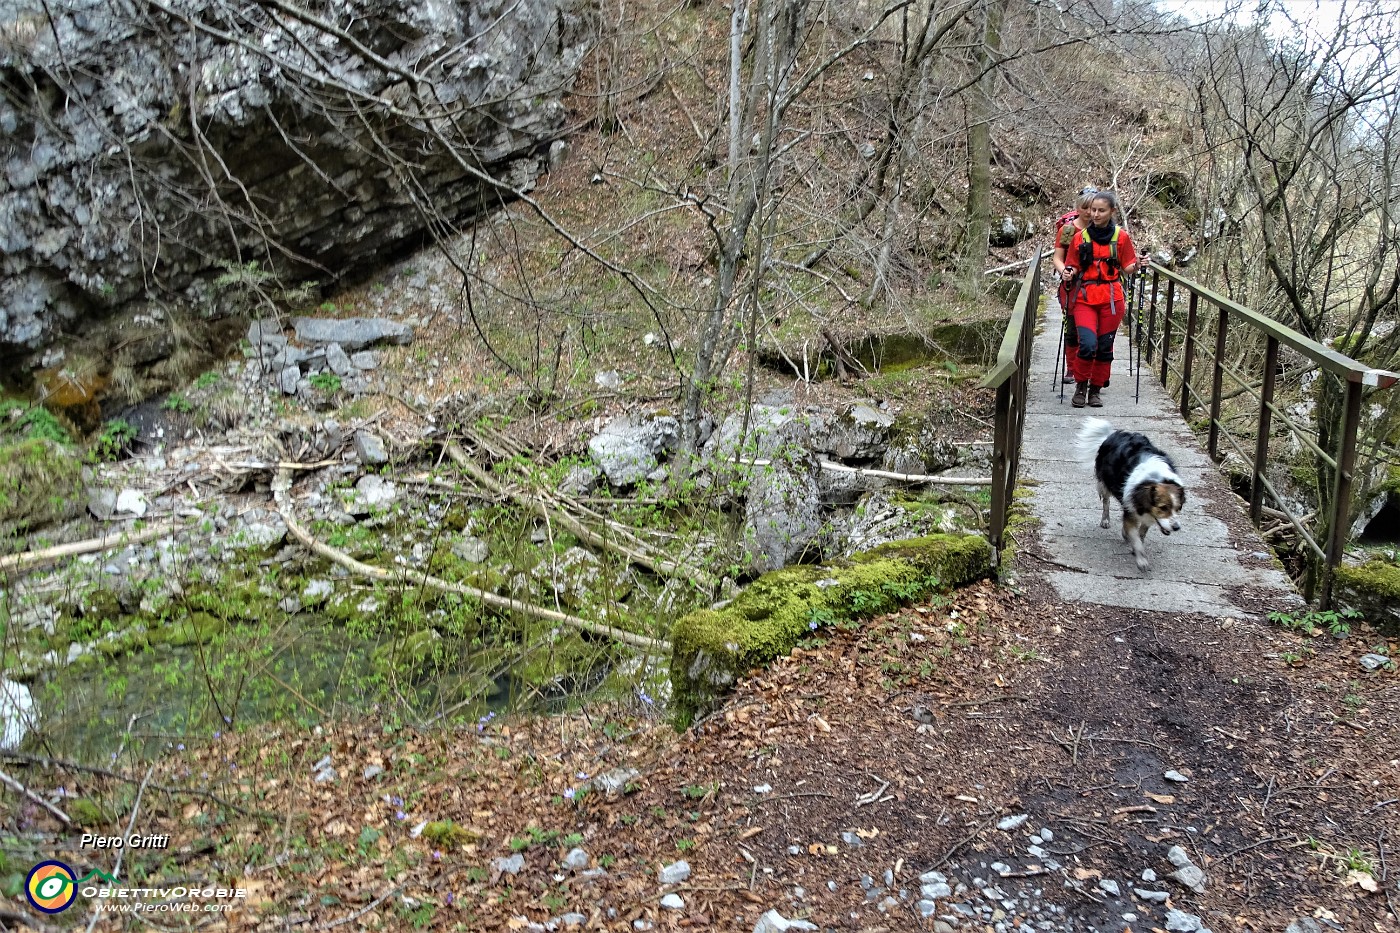
<instances>
[{"instance_id":1,"label":"front hiker, woman in red jacket and red trousers with trekking poles","mask_svg":"<svg viewBox=\"0 0 1400 933\"><path fill-rule=\"evenodd\" d=\"M1070 357L1075 408L1103 408L1099 398L1113 368L1113 338L1123 322L1123 275L1137 272L1137 249L1113 223L1119 199L1112 191L1089 199L1089 226L1074 234L1065 251L1065 284L1072 291L1078 352Z\"/></svg>"}]
</instances>

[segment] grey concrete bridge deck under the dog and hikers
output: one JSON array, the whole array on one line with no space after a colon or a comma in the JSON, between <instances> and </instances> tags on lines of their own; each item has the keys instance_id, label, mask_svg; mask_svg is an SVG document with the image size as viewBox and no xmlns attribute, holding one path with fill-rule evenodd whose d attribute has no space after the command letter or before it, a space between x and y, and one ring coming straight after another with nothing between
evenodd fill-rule
<instances>
[{"instance_id":1,"label":"grey concrete bridge deck under the dog and hikers","mask_svg":"<svg viewBox=\"0 0 1400 933\"><path fill-rule=\"evenodd\" d=\"M1134 401L1138 381L1135 370L1130 373L1135 353L1130 361L1127 329L1119 333L1113 377L1098 409L1072 408L1072 385L1064 387L1061 401L1054 371L1058 336L1060 308L1050 296L1035 342L1021 481L1032 490L1030 509L1040 521L1040 541L1029 553L1049 565L1046 577L1056 591L1099 605L1207 615L1242 616L1296 605L1292 583L1250 525L1239 497L1148 370L1141 374L1141 399ZM1091 416L1151 437L1186 482L1182 531L1170 538L1149 534L1152 569L1147 573L1138 572L1121 539L1117 503L1110 527L1099 527L1102 510L1092 469L1075 450L1075 434Z\"/></svg>"}]
</instances>

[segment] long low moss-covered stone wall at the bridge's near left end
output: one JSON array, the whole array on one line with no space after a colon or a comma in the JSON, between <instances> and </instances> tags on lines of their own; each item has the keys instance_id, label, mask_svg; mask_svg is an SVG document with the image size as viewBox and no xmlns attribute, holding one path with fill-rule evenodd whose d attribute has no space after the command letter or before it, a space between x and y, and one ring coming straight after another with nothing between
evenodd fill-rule
<instances>
[{"instance_id":1,"label":"long low moss-covered stone wall at the bridge's near left end","mask_svg":"<svg viewBox=\"0 0 1400 933\"><path fill-rule=\"evenodd\" d=\"M815 629L889 612L991 570L977 535L896 541L841 565L766 573L729 604L683 616L672 633L672 695L682 723L713 707L746 671L781 657Z\"/></svg>"}]
</instances>

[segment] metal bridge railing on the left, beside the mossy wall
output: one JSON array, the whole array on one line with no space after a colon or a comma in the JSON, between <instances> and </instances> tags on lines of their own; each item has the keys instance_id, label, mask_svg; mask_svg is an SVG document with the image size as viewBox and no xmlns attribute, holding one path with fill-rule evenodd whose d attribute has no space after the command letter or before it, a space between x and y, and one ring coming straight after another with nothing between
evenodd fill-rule
<instances>
[{"instance_id":1,"label":"metal bridge railing on the left, beside the mossy wall","mask_svg":"<svg viewBox=\"0 0 1400 933\"><path fill-rule=\"evenodd\" d=\"M1007 534L1011 496L1016 489L1021 468L1021 436L1026 423L1026 392L1030 384L1030 345L1036 336L1036 315L1040 311L1040 254L1026 270L1016 303L1001 338L997 364L983 378L983 388L997 389L997 417L993 427L991 451L991 546L1000 560Z\"/></svg>"}]
</instances>

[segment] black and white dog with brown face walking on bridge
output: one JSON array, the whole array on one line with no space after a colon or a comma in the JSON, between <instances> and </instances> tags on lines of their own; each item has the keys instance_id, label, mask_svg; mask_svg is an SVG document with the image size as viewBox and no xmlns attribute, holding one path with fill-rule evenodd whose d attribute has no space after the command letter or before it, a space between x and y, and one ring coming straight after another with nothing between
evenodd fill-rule
<instances>
[{"instance_id":1,"label":"black and white dog with brown face walking on bridge","mask_svg":"<svg viewBox=\"0 0 1400 933\"><path fill-rule=\"evenodd\" d=\"M1102 417L1085 419L1079 429L1079 457L1093 464L1103 500L1100 528L1109 527L1109 496L1123 506L1123 539L1133 548L1138 570L1147 562L1147 532L1156 524L1163 535L1180 531L1176 517L1186 504L1186 489L1172 458L1145 434L1120 431Z\"/></svg>"}]
</instances>

